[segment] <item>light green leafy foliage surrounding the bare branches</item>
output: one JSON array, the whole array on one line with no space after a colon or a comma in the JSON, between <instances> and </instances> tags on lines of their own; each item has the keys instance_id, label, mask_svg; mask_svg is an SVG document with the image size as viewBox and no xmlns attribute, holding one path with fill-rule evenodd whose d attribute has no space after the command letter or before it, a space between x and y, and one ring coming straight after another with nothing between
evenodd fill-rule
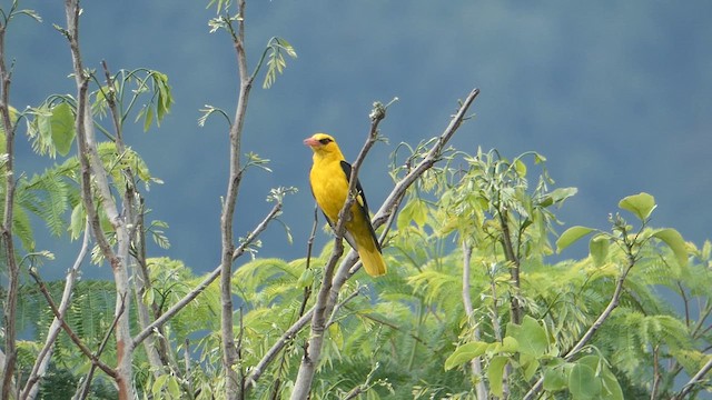
<instances>
[{"instance_id":1,"label":"light green leafy foliage surrounding the bare branches","mask_svg":"<svg viewBox=\"0 0 712 400\"><path fill-rule=\"evenodd\" d=\"M239 6L237 12L230 11L234 4L210 1L217 17L209 26L214 32L227 31L244 51L244 16ZM39 20L13 1L7 12L0 9L2 31L20 14ZM71 36L70 30L58 29ZM238 51L239 56L244 53ZM285 56L296 58L295 49L271 38L249 82L265 64L263 87L271 87L286 68ZM322 286L334 243L310 258L253 258L231 276L225 274L229 283L225 290L231 289L228 300L239 300L236 322L228 323L236 337L225 334L219 322L226 293L210 281L215 274L196 277L179 260L146 254L146 236L161 249L170 244L166 223L144 221L149 210L140 190L161 181L126 146L123 124L132 119L145 131L160 124L174 102L168 77L145 68L110 73L106 63L102 67L103 81L96 71L86 71L91 82L89 104L69 94L52 94L22 112L2 104L10 124L0 127L0 171L10 179L0 183L0 194L11 201L0 217L12 211L10 243L17 241L21 249L9 251L0 264L7 268L17 259L20 267L41 271L43 262L53 260L49 251L36 249L33 230L39 224L33 218L50 234L72 240L93 223L93 238L106 239L109 247L120 247L119 222L128 221L130 233L121 261L131 268L132 297L121 298L116 282L75 282L62 317L66 327L53 341L37 396L67 398L96 373L90 396L116 397L111 384L117 380L95 367L117 364L121 347L108 338L118 336L117 320L128 318L130 334L146 330L152 340L137 347L130 358L131 379L144 398L209 399L234 383L225 373L233 369L239 370L240 390L250 398L286 398L309 342L303 329L306 322L297 324L316 304L313 293ZM91 154L71 154L80 140L82 126L77 122L82 107L90 110L89 127L102 134L90 150L98 158L95 168L106 174L108 194L101 193L96 171L87 176L82 161ZM244 122L206 106L199 123L214 113L227 120L230 131ZM41 173L12 170L14 154L7 141L22 120L36 154L60 158ZM426 160L434 140L397 148L394 181ZM435 161L407 192L395 230L386 239L389 273L377 280L359 273L335 294L338 301L326 324L312 398L471 399L484 391L514 399L541 392L546 399L663 399L681 392L683 377L704 371L712 359L712 242L696 247L675 229L651 227L653 196L637 193L619 202L633 222L612 213L610 230L574 226L552 246L561 223L555 210L576 189L553 188L542 154L526 152L510 160L496 150L467 154L448 149ZM236 179L250 167L269 171L267 163L247 152L237 162ZM294 190L274 189L268 201L281 204ZM102 208L109 201L137 207L127 207L110 220ZM266 221L280 212L275 208ZM291 241L288 228L287 234ZM555 252L567 251L584 238L589 238L584 258L555 258ZM255 256L259 244L251 233L239 238L227 244L235 251L227 258L231 262L244 252ZM93 262L105 262L105 254L97 246ZM46 294L58 302L66 282L23 279L19 286L12 322L27 337L17 343L19 384L31 376L56 318ZM148 327L185 299L189 300L181 312ZM117 307L118 301L123 303ZM233 316L233 309L227 310L227 317ZM7 317L4 312L6 308ZM239 356L235 364L225 361L224 344L233 342L226 338L234 339ZM93 364L77 350L77 340L95 351ZM710 390L709 379L691 383L693 393L702 390Z\"/></svg>"}]
</instances>

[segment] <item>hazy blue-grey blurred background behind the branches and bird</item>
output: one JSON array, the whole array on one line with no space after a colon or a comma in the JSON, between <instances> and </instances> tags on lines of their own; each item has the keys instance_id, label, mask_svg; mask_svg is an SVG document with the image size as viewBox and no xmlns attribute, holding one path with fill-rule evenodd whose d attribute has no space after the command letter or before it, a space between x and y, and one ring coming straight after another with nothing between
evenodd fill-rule
<instances>
[{"instance_id":1,"label":"hazy blue-grey blurred background behind the branches and bird","mask_svg":"<svg viewBox=\"0 0 712 400\"><path fill-rule=\"evenodd\" d=\"M235 52L225 32L209 33L215 9L207 3L85 1L80 24L88 68L100 71L106 60L113 71L145 67L169 77L170 114L149 132L142 123L128 126L126 138L165 181L147 193L149 219L168 222L172 247L150 256L184 260L196 272L219 262L228 154L227 127L219 119L198 127L199 110L211 104L233 116L237 99ZM66 24L62 2L20 4L43 21L20 18L10 26L12 104L23 109L51 93L75 94L68 46L52 27ZM270 159L273 172L246 176L236 233L246 234L267 212L270 188L299 189L281 217L294 243L274 223L261 257L306 254L314 202L304 138L329 132L353 160L373 101L398 97L380 126L389 144L374 148L360 174L376 210L393 184L387 171L396 146L439 134L457 100L475 87L482 90L471 109L476 117L453 144L467 152L496 148L507 158L528 150L545 156L556 187L578 188L558 210L560 232L573 224L607 229L621 198L646 191L659 204L655 227L676 228L698 244L712 237L709 1L253 0L245 18L251 67L275 36L298 53L271 89L261 89L264 74L258 78L249 103L245 152ZM18 168L28 173L55 162L32 156L22 137L18 148ZM60 256L48 266L59 277L61 254L71 260L79 243L40 232L38 248ZM319 243L327 239L319 232ZM585 248L564 254L584 256Z\"/></svg>"}]
</instances>

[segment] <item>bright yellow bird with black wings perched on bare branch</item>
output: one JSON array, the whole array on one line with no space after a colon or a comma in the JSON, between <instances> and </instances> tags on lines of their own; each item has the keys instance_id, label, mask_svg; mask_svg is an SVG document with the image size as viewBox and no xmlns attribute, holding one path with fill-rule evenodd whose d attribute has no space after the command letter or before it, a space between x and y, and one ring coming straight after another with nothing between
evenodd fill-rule
<instances>
[{"instance_id":1,"label":"bright yellow bird with black wings perched on bare branch","mask_svg":"<svg viewBox=\"0 0 712 400\"><path fill-rule=\"evenodd\" d=\"M315 133L305 139L304 144L314 151L314 163L309 171L312 194L329 226L336 228L338 213L344 208L348 194L352 166L346 162L342 150L329 134ZM358 252L366 273L372 277L383 276L386 273L386 262L370 224L368 203L358 179L355 200L350 208L350 218L345 223L344 239Z\"/></svg>"}]
</instances>

